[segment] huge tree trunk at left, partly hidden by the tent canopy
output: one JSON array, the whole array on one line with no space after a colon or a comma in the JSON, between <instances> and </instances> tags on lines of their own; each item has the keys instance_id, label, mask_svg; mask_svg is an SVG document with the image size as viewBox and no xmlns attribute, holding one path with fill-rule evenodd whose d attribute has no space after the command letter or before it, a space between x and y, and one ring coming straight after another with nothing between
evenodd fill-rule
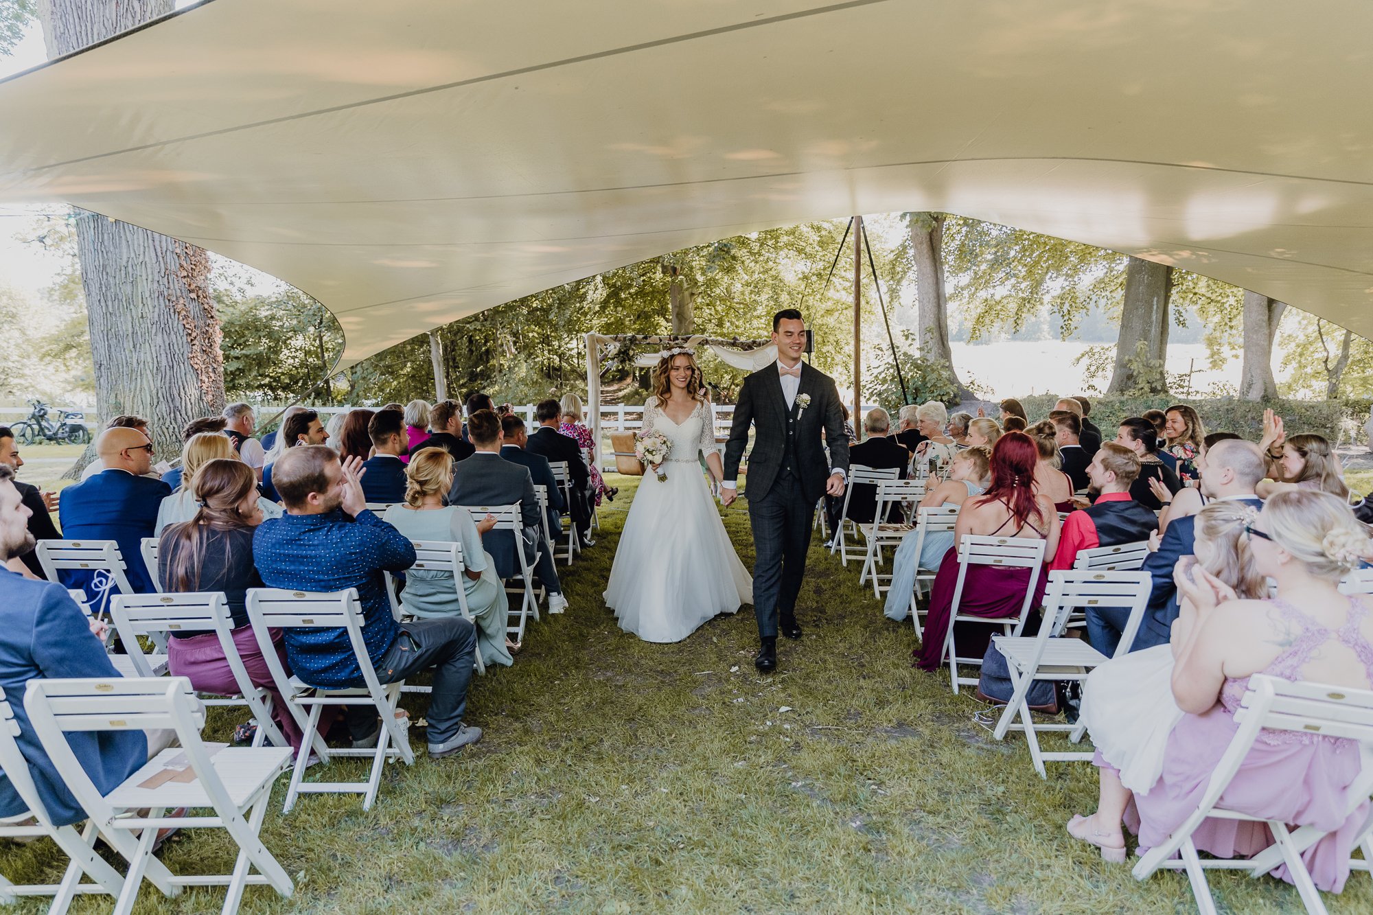
<instances>
[{"instance_id":1,"label":"huge tree trunk at left, partly hidden by the tent canopy","mask_svg":"<svg viewBox=\"0 0 1373 915\"><path fill-rule=\"evenodd\" d=\"M48 56L70 54L174 10L173 0L45 0ZM148 419L161 459L181 427L224 409L210 258L173 238L78 210L81 286L91 324L96 411ZM92 451L71 473L89 462Z\"/></svg>"}]
</instances>

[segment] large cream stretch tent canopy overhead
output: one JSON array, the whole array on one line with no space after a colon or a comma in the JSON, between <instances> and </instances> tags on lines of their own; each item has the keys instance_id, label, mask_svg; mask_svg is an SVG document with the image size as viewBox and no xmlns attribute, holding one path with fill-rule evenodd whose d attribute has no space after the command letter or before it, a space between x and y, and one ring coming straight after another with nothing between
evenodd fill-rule
<instances>
[{"instance_id":1,"label":"large cream stretch tent canopy overhead","mask_svg":"<svg viewBox=\"0 0 1373 915\"><path fill-rule=\"evenodd\" d=\"M1373 337L1370 34L1366 0L213 0L0 84L0 201L280 276L338 315L346 363L663 251L891 210Z\"/></svg>"}]
</instances>

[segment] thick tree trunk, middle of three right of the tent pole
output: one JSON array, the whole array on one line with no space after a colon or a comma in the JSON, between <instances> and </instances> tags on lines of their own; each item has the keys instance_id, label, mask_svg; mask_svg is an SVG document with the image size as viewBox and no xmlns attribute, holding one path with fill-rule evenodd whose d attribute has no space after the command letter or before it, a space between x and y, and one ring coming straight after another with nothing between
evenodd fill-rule
<instances>
[{"instance_id":1,"label":"thick tree trunk, middle of three right of the tent pole","mask_svg":"<svg viewBox=\"0 0 1373 915\"><path fill-rule=\"evenodd\" d=\"M1163 372L1168 352L1168 298L1173 268L1131 257L1124 273L1124 304L1120 337L1116 339L1115 371L1107 394L1166 394Z\"/></svg>"}]
</instances>

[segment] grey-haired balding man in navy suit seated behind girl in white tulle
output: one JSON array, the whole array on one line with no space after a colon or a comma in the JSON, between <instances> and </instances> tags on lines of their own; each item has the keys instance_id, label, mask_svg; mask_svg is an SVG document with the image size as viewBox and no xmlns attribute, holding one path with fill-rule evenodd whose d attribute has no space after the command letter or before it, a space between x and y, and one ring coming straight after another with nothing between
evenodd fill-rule
<instances>
[{"instance_id":1,"label":"grey-haired balding man in navy suit seated behind girl in white tulle","mask_svg":"<svg viewBox=\"0 0 1373 915\"><path fill-rule=\"evenodd\" d=\"M1263 479L1266 466L1259 447L1249 441L1229 438L1218 441L1212 448L1197 456L1197 470L1201 471L1201 495L1205 501L1244 501L1254 508L1262 508L1263 501L1254 488ZM1164 644L1173 632L1173 621L1178 618L1178 588L1173 572L1184 556L1193 552L1196 515L1177 518L1168 522L1157 551L1144 561L1144 572L1153 578L1149 603L1144 609L1144 620L1134 636L1131 651ZM1087 640L1101 654L1115 654L1124 632L1129 611L1120 607L1087 607Z\"/></svg>"}]
</instances>

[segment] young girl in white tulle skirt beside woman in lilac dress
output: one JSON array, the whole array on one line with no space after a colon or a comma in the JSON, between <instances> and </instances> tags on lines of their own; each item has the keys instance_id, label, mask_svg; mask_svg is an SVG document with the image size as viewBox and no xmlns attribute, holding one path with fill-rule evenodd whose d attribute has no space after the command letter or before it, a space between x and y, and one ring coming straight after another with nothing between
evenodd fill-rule
<instances>
[{"instance_id":1,"label":"young girl in white tulle skirt beside woman in lilac dress","mask_svg":"<svg viewBox=\"0 0 1373 915\"><path fill-rule=\"evenodd\" d=\"M1214 501L1196 517L1197 569L1215 576L1241 600L1256 600L1269 592L1244 532L1254 518L1254 508L1243 501ZM1061 545L1059 551L1063 552ZM1181 595L1178 620L1189 622L1175 626L1170 644L1114 658L1087 675L1083 686L1081 721L1092 732L1101 758L1130 790L1148 791L1163 771L1168 734L1182 717L1173 699L1173 655L1181 647L1177 637L1182 625L1192 625L1196 613L1186 595Z\"/></svg>"}]
</instances>

